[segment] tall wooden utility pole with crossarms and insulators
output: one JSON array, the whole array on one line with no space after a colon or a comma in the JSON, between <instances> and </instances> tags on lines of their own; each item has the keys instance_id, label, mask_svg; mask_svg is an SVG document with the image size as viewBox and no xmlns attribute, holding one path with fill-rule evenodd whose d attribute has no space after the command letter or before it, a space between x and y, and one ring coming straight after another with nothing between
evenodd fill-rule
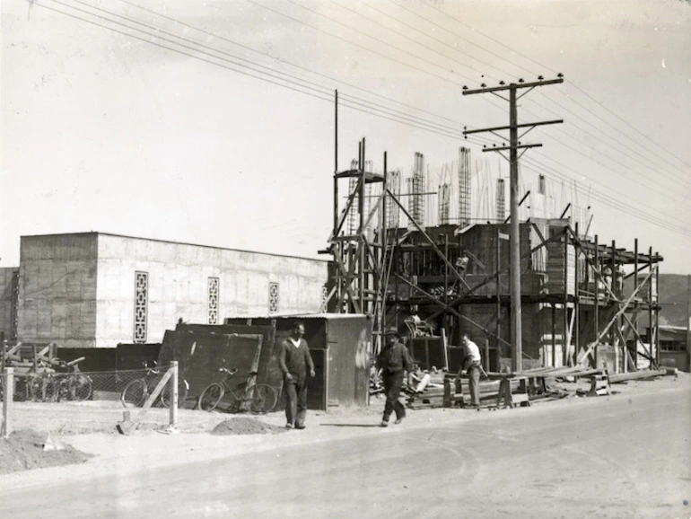
<instances>
[{"instance_id":1,"label":"tall wooden utility pole with crossarms and insulators","mask_svg":"<svg viewBox=\"0 0 691 519\"><path fill-rule=\"evenodd\" d=\"M482 84L482 88L477 90L468 90L466 86L463 87L463 95L470 95L473 93L493 93L497 97L503 99L504 101L509 101L509 126L505 127L494 127L494 128L482 128L468 130L464 128L463 135L468 138L470 134L477 134L483 132L489 132L495 136L499 136L503 140L502 135L497 132L509 130L509 145L495 146L491 148L485 148L483 152L498 152L506 159L507 157L502 153L506 150L509 151L508 161L510 164L511 172L509 177L509 189L511 192L511 266L510 266L510 277L511 277L511 323L512 323L512 371L520 372L523 370L523 347L522 347L522 327L520 323L521 309L520 309L520 234L519 234L519 179L518 179L518 166L520 156L525 153L528 148L539 147L541 144L531 144L531 145L521 145L520 137L525 136L531 129L544 126L548 124L558 124L564 122L564 119L558 120L547 120L538 121L526 124L518 124L518 110L516 103L525 94L530 92L532 89L538 86L545 86L547 84L559 84L564 83L563 75L557 75L557 79L544 80L540 75L537 82L524 83L522 79L518 80L518 83L504 84L500 82L499 86L487 87ZM527 92L523 92L518 95L518 91L524 88L529 89ZM509 98L507 99L498 92L509 91ZM519 136L519 128L528 128ZM523 152L518 153L519 149ZM564 261L566 258L564 258ZM566 289L566 280L564 279L564 290ZM564 312L566 309L564 308Z\"/></svg>"}]
</instances>

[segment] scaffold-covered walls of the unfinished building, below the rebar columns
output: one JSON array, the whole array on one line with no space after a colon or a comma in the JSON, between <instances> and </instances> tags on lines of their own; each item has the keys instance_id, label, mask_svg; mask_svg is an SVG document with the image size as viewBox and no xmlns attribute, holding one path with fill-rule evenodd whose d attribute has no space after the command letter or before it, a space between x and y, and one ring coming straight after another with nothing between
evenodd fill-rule
<instances>
[{"instance_id":1,"label":"scaffold-covered walls of the unfinished building, below the rebar columns","mask_svg":"<svg viewBox=\"0 0 691 519\"><path fill-rule=\"evenodd\" d=\"M637 241L634 251L617 249L615 242L591 242L568 219L524 222L520 228L521 303L530 322L524 331L527 369L656 369L660 255L639 253ZM444 330L451 344L459 344L461 332L469 332L484 345L488 368L511 365L509 247L502 244L508 232L507 224L476 224L465 233L455 225L413 234L389 229L393 268L387 321L407 322L415 316L438 335ZM464 253L470 262L461 274L450 266L458 267ZM538 253L547 255L542 268L533 261ZM630 290L625 290L627 282ZM642 313L651 323L647 335L639 327Z\"/></svg>"}]
</instances>

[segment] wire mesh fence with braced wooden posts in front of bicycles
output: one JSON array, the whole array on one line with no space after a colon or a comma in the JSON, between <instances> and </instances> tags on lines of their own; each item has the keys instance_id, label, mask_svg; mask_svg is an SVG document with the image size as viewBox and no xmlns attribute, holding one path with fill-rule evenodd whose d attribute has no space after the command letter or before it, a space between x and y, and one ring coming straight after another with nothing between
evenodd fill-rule
<instances>
[{"instance_id":1,"label":"wire mesh fence with braced wooden posts in front of bicycles","mask_svg":"<svg viewBox=\"0 0 691 519\"><path fill-rule=\"evenodd\" d=\"M60 425L75 434L101 426L113 430L116 422L119 432L127 434L144 419L174 431L178 407L190 407L188 386L179 379L176 362L167 369L92 373L74 365L9 367L0 376L0 400L4 437L25 427Z\"/></svg>"}]
</instances>

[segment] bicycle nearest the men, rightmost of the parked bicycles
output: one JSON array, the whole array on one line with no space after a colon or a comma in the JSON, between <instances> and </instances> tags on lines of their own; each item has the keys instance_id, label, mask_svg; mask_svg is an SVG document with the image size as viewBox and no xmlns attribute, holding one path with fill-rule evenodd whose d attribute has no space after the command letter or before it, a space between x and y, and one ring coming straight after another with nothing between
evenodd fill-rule
<instances>
[{"instance_id":1,"label":"bicycle nearest the men, rightmost of the parked bicycles","mask_svg":"<svg viewBox=\"0 0 691 519\"><path fill-rule=\"evenodd\" d=\"M212 383L206 387L202 394L199 395L197 407L203 411L213 411L221 403L226 391L230 394L230 412L237 412L243 410L245 404L249 404L249 411L252 413L267 413L276 406L278 397L276 390L266 383L258 383L255 385L244 384L241 391L233 391L228 384L228 380L238 372L238 368L227 369L225 367L218 368L218 371L224 373L225 376L220 383ZM244 406L247 409L247 406Z\"/></svg>"}]
</instances>

